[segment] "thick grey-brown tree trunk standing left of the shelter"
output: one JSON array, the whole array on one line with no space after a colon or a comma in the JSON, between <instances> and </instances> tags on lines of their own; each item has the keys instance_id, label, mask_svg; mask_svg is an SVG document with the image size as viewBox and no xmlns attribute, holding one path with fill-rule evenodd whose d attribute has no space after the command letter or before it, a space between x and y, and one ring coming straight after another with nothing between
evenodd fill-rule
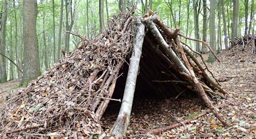
<instances>
[{"instance_id":1,"label":"thick grey-brown tree trunk standing left of the shelter","mask_svg":"<svg viewBox=\"0 0 256 139\"><path fill-rule=\"evenodd\" d=\"M36 34L37 4L34 0L23 1L23 85L40 75Z\"/></svg>"}]
</instances>

